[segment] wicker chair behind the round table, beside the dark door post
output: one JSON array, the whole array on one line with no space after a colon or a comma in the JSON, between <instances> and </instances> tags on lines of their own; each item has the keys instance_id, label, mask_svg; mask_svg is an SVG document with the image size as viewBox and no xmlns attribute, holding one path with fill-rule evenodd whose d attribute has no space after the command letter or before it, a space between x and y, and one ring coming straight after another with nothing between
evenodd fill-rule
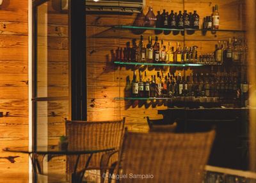
<instances>
[{"instance_id":1,"label":"wicker chair behind the round table, beside the dark door post","mask_svg":"<svg viewBox=\"0 0 256 183\"><path fill-rule=\"evenodd\" d=\"M124 122L125 118L121 121L112 122L66 121L68 148L116 148L113 152L92 155L86 170L100 170L102 175L109 169L109 164L115 164L118 160L116 152L118 152L124 136ZM84 171L84 164L88 157L89 155L81 155L77 166L78 171ZM68 156L68 175L74 172L75 163L76 157ZM104 182L104 180L101 180L101 182Z\"/></svg>"}]
</instances>

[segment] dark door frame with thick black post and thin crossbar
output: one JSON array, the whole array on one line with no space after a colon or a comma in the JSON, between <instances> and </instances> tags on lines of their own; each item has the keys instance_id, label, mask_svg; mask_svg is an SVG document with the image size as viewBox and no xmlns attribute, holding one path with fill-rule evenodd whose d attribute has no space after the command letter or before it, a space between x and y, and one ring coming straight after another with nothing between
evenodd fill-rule
<instances>
[{"instance_id":1,"label":"dark door frame with thick black post and thin crossbar","mask_svg":"<svg viewBox=\"0 0 256 183\"><path fill-rule=\"evenodd\" d=\"M33 0L33 76L32 76L32 114L33 114L33 149L36 148L36 102L49 97L36 97L36 63L37 63L37 7L49 0ZM70 83L70 118L71 120L87 120L87 93L86 93L86 24L85 0L69 0L68 2L68 32L69 32L69 83ZM50 97L52 98L52 97ZM58 98L58 97L57 97Z\"/></svg>"}]
</instances>

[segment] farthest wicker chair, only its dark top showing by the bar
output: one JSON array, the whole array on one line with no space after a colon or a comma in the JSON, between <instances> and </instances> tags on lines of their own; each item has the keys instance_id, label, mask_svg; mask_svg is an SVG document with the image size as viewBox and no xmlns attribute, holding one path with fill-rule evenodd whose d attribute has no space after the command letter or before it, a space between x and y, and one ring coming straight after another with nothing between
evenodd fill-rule
<instances>
[{"instance_id":1,"label":"farthest wicker chair, only its dark top showing by the bar","mask_svg":"<svg viewBox=\"0 0 256 183\"><path fill-rule=\"evenodd\" d=\"M149 132L175 132L177 123L168 124L164 123L163 119L160 120L150 120L147 116L147 122L149 127Z\"/></svg>"}]
</instances>

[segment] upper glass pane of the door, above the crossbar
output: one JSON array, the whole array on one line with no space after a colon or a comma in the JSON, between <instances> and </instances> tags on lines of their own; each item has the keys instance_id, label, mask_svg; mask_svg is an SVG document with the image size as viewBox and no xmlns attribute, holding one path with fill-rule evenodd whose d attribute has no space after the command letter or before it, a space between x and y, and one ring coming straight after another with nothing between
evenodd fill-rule
<instances>
[{"instance_id":1,"label":"upper glass pane of the door, above the crossbar","mask_svg":"<svg viewBox=\"0 0 256 183\"><path fill-rule=\"evenodd\" d=\"M68 14L57 5L37 8L36 97L68 96Z\"/></svg>"}]
</instances>

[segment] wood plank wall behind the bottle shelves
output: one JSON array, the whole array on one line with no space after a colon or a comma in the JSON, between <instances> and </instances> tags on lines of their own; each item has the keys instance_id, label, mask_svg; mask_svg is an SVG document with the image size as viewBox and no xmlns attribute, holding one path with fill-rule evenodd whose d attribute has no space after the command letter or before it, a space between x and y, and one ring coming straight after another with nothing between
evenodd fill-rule
<instances>
[{"instance_id":1,"label":"wood plank wall behind the bottle shelves","mask_svg":"<svg viewBox=\"0 0 256 183\"><path fill-rule=\"evenodd\" d=\"M170 12L179 12L179 10L188 10L193 12L197 10L200 15L200 21L205 16L211 15L212 6L219 5L220 28L221 29L243 29L244 16L242 1L236 0L146 0L144 14L148 11L148 6L152 6L155 15L158 10L163 9ZM243 4L243 3L242 3ZM242 17L242 18L241 18ZM146 116L150 118L162 118L157 115L157 109L164 109L165 106L151 104L142 105L132 104L129 101L117 101L115 97L129 96L130 89L127 89L127 78L132 80L132 69L125 67L116 67L111 60L111 50L115 51L117 47L125 47L126 42L131 42L132 38L140 39L140 34L136 35L129 30L111 29L114 25L132 25L136 15L86 15L86 59L87 59L87 81L88 81L88 120L118 120L126 117L126 126L132 131L147 131ZM109 26L109 27L106 27ZM154 31L145 31L143 33L145 44L149 35L154 39ZM176 42L182 43L182 35L158 35L160 40L165 43L171 42L176 47ZM186 35L186 45L198 45L198 54L213 52L218 40L228 40L229 37L243 37L241 33L217 33L212 35L207 32L202 36L200 32L193 35ZM154 42L153 42L154 43ZM138 44L138 42L137 42ZM173 70L170 72L181 72ZM136 70L138 76L138 69ZM187 73L191 70L187 70ZM148 76L156 75L156 70L148 71ZM128 92L127 92L128 90Z\"/></svg>"}]
</instances>

